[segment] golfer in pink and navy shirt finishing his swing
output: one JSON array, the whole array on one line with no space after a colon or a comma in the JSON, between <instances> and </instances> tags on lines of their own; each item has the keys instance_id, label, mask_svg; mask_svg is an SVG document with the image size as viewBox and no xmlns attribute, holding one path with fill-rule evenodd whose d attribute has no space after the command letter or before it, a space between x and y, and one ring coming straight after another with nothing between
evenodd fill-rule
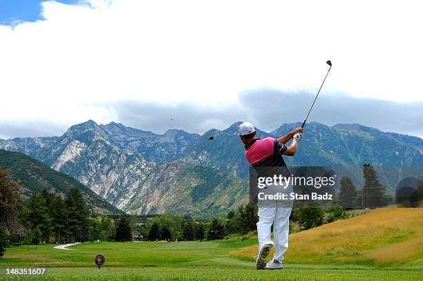
<instances>
[{"instance_id":1,"label":"golfer in pink and navy shirt finishing his swing","mask_svg":"<svg viewBox=\"0 0 423 281\"><path fill-rule=\"evenodd\" d=\"M251 166L286 166L282 155L294 156L297 143L301 139L303 128L296 128L291 133L274 139L256 138L256 130L250 122L238 126L238 135L245 144L245 157ZM292 139L290 146L285 144ZM256 255L257 269L283 269L283 253L288 249L289 218L292 206L259 206L259 222L257 233L259 238L259 254ZM273 224L274 243L271 240L271 227ZM267 262L267 255L272 247L276 248L274 257Z\"/></svg>"}]
</instances>

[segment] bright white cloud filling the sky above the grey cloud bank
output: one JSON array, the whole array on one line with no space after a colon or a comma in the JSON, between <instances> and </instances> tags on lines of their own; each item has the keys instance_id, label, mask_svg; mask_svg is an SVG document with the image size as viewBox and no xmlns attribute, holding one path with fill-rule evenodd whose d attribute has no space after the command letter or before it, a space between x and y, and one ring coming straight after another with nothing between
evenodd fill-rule
<instances>
[{"instance_id":1,"label":"bright white cloud filling the sky above the grey cloud bank","mask_svg":"<svg viewBox=\"0 0 423 281\"><path fill-rule=\"evenodd\" d=\"M227 106L248 89L314 91L328 58L326 92L422 101L422 8L420 1L47 1L44 20L0 26L0 119L110 122L113 112L96 104Z\"/></svg>"}]
</instances>

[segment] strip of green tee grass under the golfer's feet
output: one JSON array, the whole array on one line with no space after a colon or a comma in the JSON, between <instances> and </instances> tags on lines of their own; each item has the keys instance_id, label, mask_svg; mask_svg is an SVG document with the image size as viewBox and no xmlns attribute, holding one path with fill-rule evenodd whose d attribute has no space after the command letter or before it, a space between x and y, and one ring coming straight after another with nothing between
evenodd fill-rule
<instances>
[{"instance_id":1,"label":"strip of green tee grass under the golfer's feet","mask_svg":"<svg viewBox=\"0 0 423 281\"><path fill-rule=\"evenodd\" d=\"M250 267L225 264L209 267L53 268L47 280L422 280L418 271L314 269L287 267L282 271L256 271ZM41 279L41 278L40 278Z\"/></svg>"}]
</instances>

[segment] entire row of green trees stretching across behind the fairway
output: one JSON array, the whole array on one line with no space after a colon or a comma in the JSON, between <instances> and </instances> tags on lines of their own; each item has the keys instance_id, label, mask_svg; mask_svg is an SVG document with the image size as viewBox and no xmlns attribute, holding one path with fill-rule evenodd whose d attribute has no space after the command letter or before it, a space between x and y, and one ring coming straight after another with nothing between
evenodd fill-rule
<instances>
[{"instance_id":1,"label":"entire row of green trees stretching across behind the fairway","mask_svg":"<svg viewBox=\"0 0 423 281\"><path fill-rule=\"evenodd\" d=\"M361 191L349 177L342 177L337 206L330 209L297 208L290 216L290 229L310 229L346 217L348 209L386 206L392 197L379 183L373 166L364 164L364 186ZM181 241L218 240L231 235L256 231L257 208L252 204L238 206L226 215L208 220L164 214L153 217L121 215L98 216L88 211L84 196L72 188L64 197L47 190L32 193L22 202L20 182L10 180L0 167L0 256L12 244L70 243L88 241L140 240ZM418 187L423 199L423 177ZM135 234L135 235L134 235Z\"/></svg>"}]
</instances>

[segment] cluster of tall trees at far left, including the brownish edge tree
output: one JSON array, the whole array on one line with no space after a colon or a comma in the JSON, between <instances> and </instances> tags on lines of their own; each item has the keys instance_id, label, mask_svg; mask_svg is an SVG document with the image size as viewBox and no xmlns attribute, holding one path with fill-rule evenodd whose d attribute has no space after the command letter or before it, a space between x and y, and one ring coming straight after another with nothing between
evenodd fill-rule
<instances>
[{"instance_id":1,"label":"cluster of tall trees at far left, including the brownish edge tree","mask_svg":"<svg viewBox=\"0 0 423 281\"><path fill-rule=\"evenodd\" d=\"M111 217L90 213L84 195L71 188L62 197L46 189L22 202L21 182L0 167L0 256L9 244L71 243L114 240Z\"/></svg>"}]
</instances>

